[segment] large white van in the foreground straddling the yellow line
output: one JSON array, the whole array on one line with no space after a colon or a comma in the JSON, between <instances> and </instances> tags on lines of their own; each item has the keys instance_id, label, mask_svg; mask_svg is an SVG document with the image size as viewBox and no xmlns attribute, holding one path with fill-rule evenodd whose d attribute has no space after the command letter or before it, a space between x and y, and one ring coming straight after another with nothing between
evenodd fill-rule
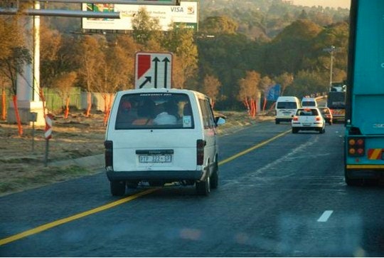
<instances>
[{"instance_id":1,"label":"large white van in the foreground straddling the yellow line","mask_svg":"<svg viewBox=\"0 0 384 258\"><path fill-rule=\"evenodd\" d=\"M105 134L105 170L112 195L126 187L218 187L218 138L208 96L196 91L142 88L117 92Z\"/></svg>"}]
</instances>

